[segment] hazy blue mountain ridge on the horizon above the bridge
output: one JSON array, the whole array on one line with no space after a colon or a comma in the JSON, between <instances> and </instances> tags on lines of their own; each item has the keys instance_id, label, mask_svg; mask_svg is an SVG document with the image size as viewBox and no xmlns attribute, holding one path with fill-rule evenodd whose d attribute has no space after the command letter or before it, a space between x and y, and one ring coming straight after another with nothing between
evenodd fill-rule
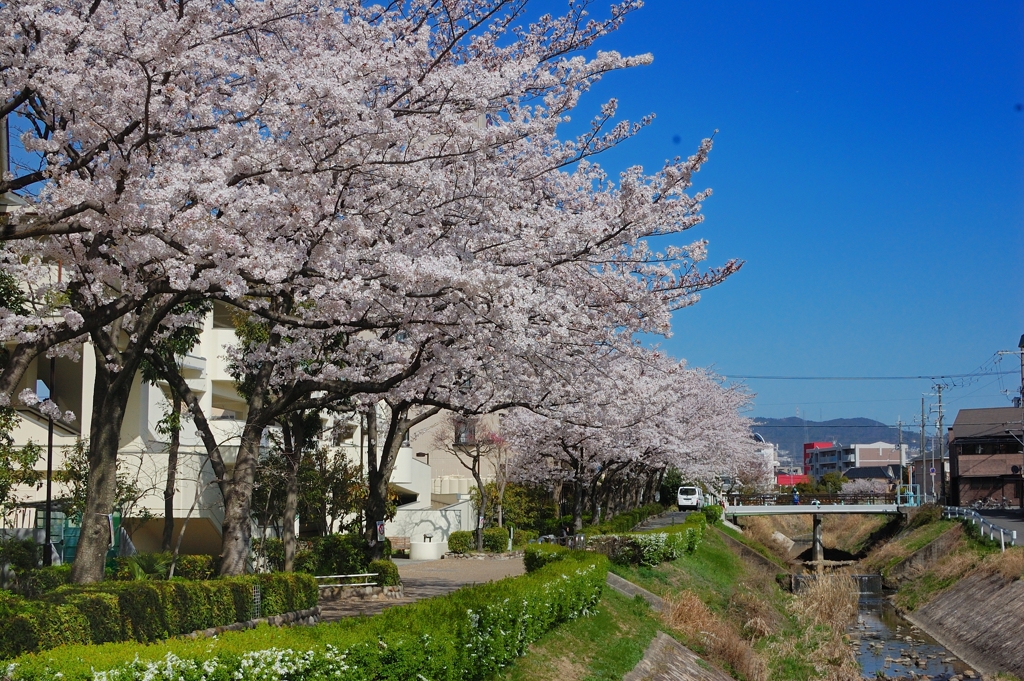
<instances>
[{"instance_id":1,"label":"hazy blue mountain ridge on the horizon above the bridge","mask_svg":"<svg viewBox=\"0 0 1024 681\"><path fill-rule=\"evenodd\" d=\"M793 416L784 419L755 417L754 423L754 432L761 433L769 442L778 444L778 449L787 452L786 458L795 463L803 460L804 442L839 442L849 445L879 441L895 444L899 441L896 428L872 419L807 421ZM916 450L921 443L921 430L904 428L903 443ZM783 455L779 459L783 459Z\"/></svg>"}]
</instances>

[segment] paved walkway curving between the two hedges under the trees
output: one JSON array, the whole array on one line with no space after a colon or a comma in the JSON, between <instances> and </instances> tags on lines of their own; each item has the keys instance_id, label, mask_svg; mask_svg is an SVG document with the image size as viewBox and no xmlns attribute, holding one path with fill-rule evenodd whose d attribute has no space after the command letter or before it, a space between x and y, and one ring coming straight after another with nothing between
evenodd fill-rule
<instances>
[{"instance_id":1,"label":"paved walkway curving between the two hedges under the trees","mask_svg":"<svg viewBox=\"0 0 1024 681\"><path fill-rule=\"evenodd\" d=\"M462 587L484 582L494 582L506 577L525 573L522 558L509 560L472 558L449 558L443 560L395 560L404 591L402 598L361 599L321 601L321 618L324 622L352 618L360 614L377 614L394 605L413 603L421 598L440 596Z\"/></svg>"}]
</instances>

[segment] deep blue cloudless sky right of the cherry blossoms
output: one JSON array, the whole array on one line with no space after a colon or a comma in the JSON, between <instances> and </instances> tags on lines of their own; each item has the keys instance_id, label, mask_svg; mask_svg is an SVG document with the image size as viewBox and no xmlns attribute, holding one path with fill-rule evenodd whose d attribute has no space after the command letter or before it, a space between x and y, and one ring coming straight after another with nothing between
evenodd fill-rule
<instances>
[{"instance_id":1,"label":"deep blue cloudless sky right of the cherry blossoms","mask_svg":"<svg viewBox=\"0 0 1024 681\"><path fill-rule=\"evenodd\" d=\"M606 78L575 120L610 96L626 118L656 114L600 159L613 172L654 170L718 129L691 236L710 240L711 264L746 261L663 347L726 377L966 374L1016 349L1022 45L1021 2L649 0L600 47L654 63ZM757 416L886 423L920 416L932 385L745 383ZM966 383L946 390L948 422L1009 406L1000 389L1020 376Z\"/></svg>"}]
</instances>

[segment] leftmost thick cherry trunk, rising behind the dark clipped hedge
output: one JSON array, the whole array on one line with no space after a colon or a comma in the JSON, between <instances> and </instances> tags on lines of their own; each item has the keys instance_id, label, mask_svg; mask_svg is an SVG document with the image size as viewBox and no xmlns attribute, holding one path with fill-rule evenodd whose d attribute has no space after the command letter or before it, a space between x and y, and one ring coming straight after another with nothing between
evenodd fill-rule
<instances>
[{"instance_id":1,"label":"leftmost thick cherry trunk, rising behind the dark clipped hedge","mask_svg":"<svg viewBox=\"0 0 1024 681\"><path fill-rule=\"evenodd\" d=\"M89 426L89 481L82 514L72 582L92 584L103 580L106 551L114 543L108 515L117 501L118 448L121 424L131 394L135 369L114 373L96 348L96 378L93 383L92 423ZM137 365L137 363L136 363Z\"/></svg>"}]
</instances>

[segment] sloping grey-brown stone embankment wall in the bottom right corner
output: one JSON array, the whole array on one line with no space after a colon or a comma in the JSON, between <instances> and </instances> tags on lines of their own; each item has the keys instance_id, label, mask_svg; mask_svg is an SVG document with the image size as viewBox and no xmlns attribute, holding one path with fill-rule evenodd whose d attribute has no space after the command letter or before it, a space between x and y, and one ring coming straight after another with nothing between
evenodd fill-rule
<instances>
[{"instance_id":1,"label":"sloping grey-brown stone embankment wall in the bottom right corner","mask_svg":"<svg viewBox=\"0 0 1024 681\"><path fill-rule=\"evenodd\" d=\"M1024 677L1024 581L969 574L904 616L984 674Z\"/></svg>"}]
</instances>

